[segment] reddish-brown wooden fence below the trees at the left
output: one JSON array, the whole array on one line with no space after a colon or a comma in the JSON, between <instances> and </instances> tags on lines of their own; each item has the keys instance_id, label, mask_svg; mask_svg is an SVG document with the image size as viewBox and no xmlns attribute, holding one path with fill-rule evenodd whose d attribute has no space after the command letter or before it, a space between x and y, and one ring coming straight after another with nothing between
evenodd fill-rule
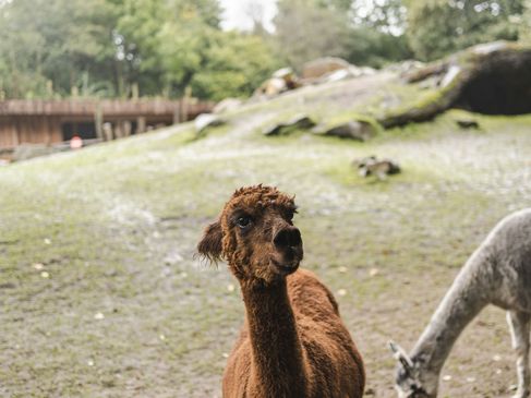
<instances>
[{"instance_id":1,"label":"reddish-brown wooden fence below the trees at the left","mask_svg":"<svg viewBox=\"0 0 531 398\"><path fill-rule=\"evenodd\" d=\"M5 100L0 101L0 148L52 145L73 135L114 140L191 120L213 107L194 99Z\"/></svg>"}]
</instances>

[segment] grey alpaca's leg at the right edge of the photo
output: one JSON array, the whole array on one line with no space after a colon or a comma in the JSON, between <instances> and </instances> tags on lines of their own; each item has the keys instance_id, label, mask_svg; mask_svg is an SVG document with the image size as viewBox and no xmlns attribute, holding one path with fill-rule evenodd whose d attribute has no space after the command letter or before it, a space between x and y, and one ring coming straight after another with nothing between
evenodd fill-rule
<instances>
[{"instance_id":1,"label":"grey alpaca's leg at the right edge of the photo","mask_svg":"<svg viewBox=\"0 0 531 398\"><path fill-rule=\"evenodd\" d=\"M514 398L529 397L529 325L531 314L507 311L507 323L512 337L512 348L516 350L516 367L518 374L518 389Z\"/></svg>"}]
</instances>

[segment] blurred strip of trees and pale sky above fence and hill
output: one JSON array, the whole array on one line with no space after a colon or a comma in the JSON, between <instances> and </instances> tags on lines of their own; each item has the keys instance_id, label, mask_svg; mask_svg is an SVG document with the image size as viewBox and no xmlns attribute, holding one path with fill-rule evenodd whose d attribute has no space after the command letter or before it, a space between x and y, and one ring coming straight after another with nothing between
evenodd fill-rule
<instances>
[{"instance_id":1,"label":"blurred strip of trees and pale sky above fence and hill","mask_svg":"<svg viewBox=\"0 0 531 398\"><path fill-rule=\"evenodd\" d=\"M0 98L253 93L334 56L382 68L529 40L526 0L90 0L0 3Z\"/></svg>"}]
</instances>

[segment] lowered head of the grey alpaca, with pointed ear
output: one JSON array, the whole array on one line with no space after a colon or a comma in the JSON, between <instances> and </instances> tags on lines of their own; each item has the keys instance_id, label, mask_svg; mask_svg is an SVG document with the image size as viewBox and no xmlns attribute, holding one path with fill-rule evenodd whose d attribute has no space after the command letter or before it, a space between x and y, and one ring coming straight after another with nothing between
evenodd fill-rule
<instances>
[{"instance_id":1,"label":"lowered head of the grey alpaca, with pointed ear","mask_svg":"<svg viewBox=\"0 0 531 398\"><path fill-rule=\"evenodd\" d=\"M423 366L423 361L412 360L396 342L389 342L397 360L395 390L398 398L437 397L438 373Z\"/></svg>"}]
</instances>

